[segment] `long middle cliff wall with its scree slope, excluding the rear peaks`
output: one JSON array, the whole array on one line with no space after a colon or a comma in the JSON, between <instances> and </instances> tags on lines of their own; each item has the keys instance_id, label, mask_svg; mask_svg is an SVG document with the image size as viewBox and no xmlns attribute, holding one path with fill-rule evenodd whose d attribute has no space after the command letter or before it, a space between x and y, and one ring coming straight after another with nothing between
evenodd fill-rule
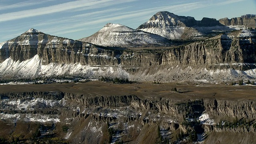
<instances>
[{"instance_id":1,"label":"long middle cliff wall with its scree slope, excluding the rear peaks","mask_svg":"<svg viewBox=\"0 0 256 144\"><path fill-rule=\"evenodd\" d=\"M25 34L35 37L31 33ZM29 78L67 74L98 78L107 74L131 80L190 80L196 78L196 74L201 73L202 69L206 69L204 78L215 78L209 70L250 70L255 67L256 60L254 30L221 34L167 50L104 48L64 38L56 39L43 33L36 34L39 37L41 35L44 35L45 39L39 38L40 42L37 44L25 45L26 50L21 49L23 45L19 41L12 45L10 42L14 42L13 40L2 43L2 77ZM48 37L52 39L49 41ZM66 41L69 42L66 44ZM32 59L28 59L34 54ZM10 58L7 58L8 56ZM27 67L31 69L28 70ZM169 69L167 73L166 68ZM230 76L234 73L233 70L228 71ZM186 76L183 76L185 73ZM247 73L249 74L243 74ZM253 74L250 76L253 77ZM236 75L233 78L235 77ZM219 79L219 76L216 79Z\"/></svg>"}]
</instances>

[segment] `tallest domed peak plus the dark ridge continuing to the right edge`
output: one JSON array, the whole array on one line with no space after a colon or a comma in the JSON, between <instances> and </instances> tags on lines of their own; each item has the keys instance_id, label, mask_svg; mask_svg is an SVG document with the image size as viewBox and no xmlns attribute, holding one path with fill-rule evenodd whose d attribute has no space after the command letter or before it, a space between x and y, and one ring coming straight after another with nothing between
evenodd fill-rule
<instances>
[{"instance_id":1,"label":"tallest domed peak plus the dark ridge continuing to the right edge","mask_svg":"<svg viewBox=\"0 0 256 144\"><path fill-rule=\"evenodd\" d=\"M178 16L170 12L157 12L137 29L158 34L168 39L188 39L208 36L210 33L255 28L255 16L244 15L240 18L202 18L195 20L191 16Z\"/></svg>"}]
</instances>

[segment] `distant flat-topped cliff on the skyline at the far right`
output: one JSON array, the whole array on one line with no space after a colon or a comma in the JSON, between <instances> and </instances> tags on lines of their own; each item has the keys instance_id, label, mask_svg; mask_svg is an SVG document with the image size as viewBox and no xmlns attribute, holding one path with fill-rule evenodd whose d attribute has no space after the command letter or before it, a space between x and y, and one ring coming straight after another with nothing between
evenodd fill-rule
<instances>
[{"instance_id":1,"label":"distant flat-topped cliff on the skyline at the far right","mask_svg":"<svg viewBox=\"0 0 256 144\"><path fill-rule=\"evenodd\" d=\"M248 28L256 28L256 15L254 14L246 14L244 16L238 18L222 18L219 22L225 26L241 26L244 25Z\"/></svg>"}]
</instances>

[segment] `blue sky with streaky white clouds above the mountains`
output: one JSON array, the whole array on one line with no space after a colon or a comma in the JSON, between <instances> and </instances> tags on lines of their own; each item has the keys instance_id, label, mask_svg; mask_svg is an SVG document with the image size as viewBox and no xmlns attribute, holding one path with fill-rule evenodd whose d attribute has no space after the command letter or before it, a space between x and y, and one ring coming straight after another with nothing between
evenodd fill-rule
<instances>
[{"instance_id":1,"label":"blue sky with streaky white clouds above the mountains","mask_svg":"<svg viewBox=\"0 0 256 144\"><path fill-rule=\"evenodd\" d=\"M218 20L256 14L256 0L0 0L0 42L29 28L74 40L108 22L136 29L159 11Z\"/></svg>"}]
</instances>

